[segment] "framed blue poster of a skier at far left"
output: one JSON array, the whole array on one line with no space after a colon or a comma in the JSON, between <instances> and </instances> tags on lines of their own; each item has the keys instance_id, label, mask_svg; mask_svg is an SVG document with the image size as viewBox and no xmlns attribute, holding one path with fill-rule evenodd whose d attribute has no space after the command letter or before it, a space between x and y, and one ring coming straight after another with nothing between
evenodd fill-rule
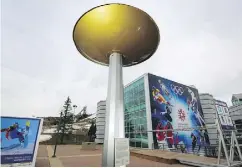
<instances>
[{"instance_id":1,"label":"framed blue poster of a skier at far left","mask_svg":"<svg viewBox=\"0 0 242 168\"><path fill-rule=\"evenodd\" d=\"M1 117L1 164L35 162L41 119Z\"/></svg>"}]
</instances>

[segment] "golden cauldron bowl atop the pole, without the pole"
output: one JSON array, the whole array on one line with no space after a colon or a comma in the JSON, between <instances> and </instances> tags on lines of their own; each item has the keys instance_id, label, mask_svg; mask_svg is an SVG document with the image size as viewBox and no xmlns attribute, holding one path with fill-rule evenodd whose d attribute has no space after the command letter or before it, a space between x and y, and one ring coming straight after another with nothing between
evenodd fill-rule
<instances>
[{"instance_id":1,"label":"golden cauldron bowl atop the pole, without the pole","mask_svg":"<svg viewBox=\"0 0 242 168\"><path fill-rule=\"evenodd\" d=\"M87 59L109 65L109 55L122 54L128 67L149 59L156 51L160 34L144 11L125 4L105 4L84 13L76 22L73 40Z\"/></svg>"}]
</instances>

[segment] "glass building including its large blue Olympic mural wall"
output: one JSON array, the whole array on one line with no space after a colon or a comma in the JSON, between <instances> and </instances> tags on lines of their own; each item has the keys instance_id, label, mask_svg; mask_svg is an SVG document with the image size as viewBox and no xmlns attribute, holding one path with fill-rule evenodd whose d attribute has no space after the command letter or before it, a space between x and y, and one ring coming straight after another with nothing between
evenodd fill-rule
<instances>
[{"instance_id":1,"label":"glass building including its large blue Olympic mural wall","mask_svg":"<svg viewBox=\"0 0 242 168\"><path fill-rule=\"evenodd\" d=\"M125 137L131 147L174 148L183 144L189 152L191 136L199 140L200 134L187 128L205 126L196 88L148 73L124 87L124 106ZM207 137L205 141L209 143Z\"/></svg>"}]
</instances>

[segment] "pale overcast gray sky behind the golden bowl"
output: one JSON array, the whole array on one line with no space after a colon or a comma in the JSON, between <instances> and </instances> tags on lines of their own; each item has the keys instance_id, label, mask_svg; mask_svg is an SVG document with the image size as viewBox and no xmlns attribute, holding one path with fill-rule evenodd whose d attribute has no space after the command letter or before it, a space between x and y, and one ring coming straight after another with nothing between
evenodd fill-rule
<instances>
[{"instance_id":1,"label":"pale overcast gray sky behind the golden bowl","mask_svg":"<svg viewBox=\"0 0 242 168\"><path fill-rule=\"evenodd\" d=\"M56 116L67 96L96 112L108 67L83 58L72 31L84 12L109 2L143 9L161 33L152 58L124 68L124 84L150 72L228 103L242 92L240 0L1 0L2 115Z\"/></svg>"}]
</instances>

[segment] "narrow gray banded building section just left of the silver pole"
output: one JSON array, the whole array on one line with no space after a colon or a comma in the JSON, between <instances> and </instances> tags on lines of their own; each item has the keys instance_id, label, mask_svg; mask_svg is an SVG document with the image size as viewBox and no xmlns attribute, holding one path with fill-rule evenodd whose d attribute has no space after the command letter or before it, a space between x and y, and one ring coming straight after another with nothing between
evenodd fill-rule
<instances>
[{"instance_id":1,"label":"narrow gray banded building section just left of the silver pole","mask_svg":"<svg viewBox=\"0 0 242 168\"><path fill-rule=\"evenodd\" d=\"M97 103L96 113L96 139L95 142L102 144L104 141L105 133L105 118L106 118L106 101L100 101Z\"/></svg>"}]
</instances>

